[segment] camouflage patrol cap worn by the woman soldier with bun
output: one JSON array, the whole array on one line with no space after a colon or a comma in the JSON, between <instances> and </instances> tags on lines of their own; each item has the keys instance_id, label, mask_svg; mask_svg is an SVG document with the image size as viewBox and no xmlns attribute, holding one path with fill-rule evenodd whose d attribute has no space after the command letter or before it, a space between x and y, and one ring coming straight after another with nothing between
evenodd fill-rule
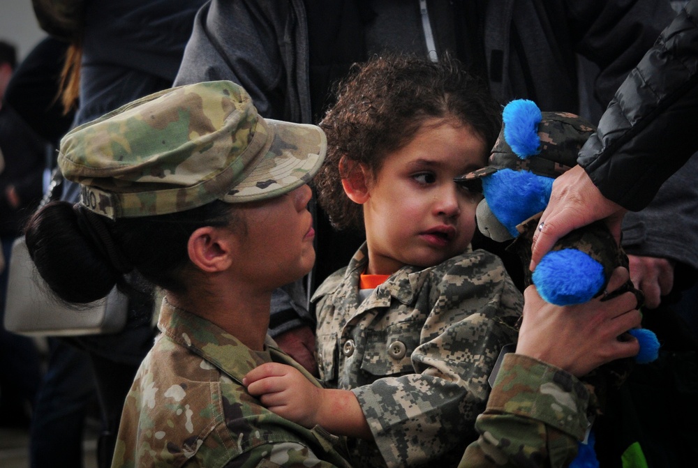
<instances>
[{"instance_id":1,"label":"camouflage patrol cap worn by the woman soldier with bun","mask_svg":"<svg viewBox=\"0 0 698 468\"><path fill-rule=\"evenodd\" d=\"M160 91L70 131L58 164L82 185L80 202L109 218L133 218L278 197L320 168L317 126L263 119L228 82Z\"/></svg>"}]
</instances>

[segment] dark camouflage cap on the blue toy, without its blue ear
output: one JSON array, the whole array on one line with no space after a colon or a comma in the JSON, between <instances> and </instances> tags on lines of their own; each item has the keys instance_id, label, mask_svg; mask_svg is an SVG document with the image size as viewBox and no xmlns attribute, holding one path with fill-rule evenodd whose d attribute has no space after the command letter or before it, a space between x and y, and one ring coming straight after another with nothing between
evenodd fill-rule
<instances>
[{"instance_id":1,"label":"dark camouflage cap on the blue toy, without its blue ear","mask_svg":"<svg viewBox=\"0 0 698 468\"><path fill-rule=\"evenodd\" d=\"M581 117L567 112L541 112L538 124L540 147L535 156L517 156L500 130L489 156L487 167L456 178L456 183L482 192L480 179L499 169L526 170L539 176L556 178L577 165L577 153L596 128Z\"/></svg>"}]
</instances>

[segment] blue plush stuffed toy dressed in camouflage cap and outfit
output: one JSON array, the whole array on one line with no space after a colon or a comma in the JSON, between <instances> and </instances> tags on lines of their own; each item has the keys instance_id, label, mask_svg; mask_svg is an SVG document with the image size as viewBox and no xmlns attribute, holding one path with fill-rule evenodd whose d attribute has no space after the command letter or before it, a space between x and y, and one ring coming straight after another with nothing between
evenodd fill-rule
<instances>
[{"instance_id":1,"label":"blue plush stuffed toy dressed in camouflage cap and outfit","mask_svg":"<svg viewBox=\"0 0 698 468\"><path fill-rule=\"evenodd\" d=\"M584 303L607 292L617 266L628 268L628 257L604 222L575 229L560 239L528 271L531 241L542 211L548 204L556 176L577 164L577 153L595 128L574 114L541 112L530 100L514 100L503 110L503 128L491 151L489 165L456 178L470 190L482 191L477 206L477 226L494 241L512 240L507 250L517 252L523 263L524 282L531 283L545 301L556 305ZM613 294L632 291L641 303L641 292L628 282ZM658 357L656 335L646 329L628 331L639 341L637 363ZM603 406L609 386L620 386L627 377L628 360L609 363L585 377L598 405ZM593 432L590 435L593 441ZM597 466L593 443L580 444L572 467Z\"/></svg>"}]
</instances>

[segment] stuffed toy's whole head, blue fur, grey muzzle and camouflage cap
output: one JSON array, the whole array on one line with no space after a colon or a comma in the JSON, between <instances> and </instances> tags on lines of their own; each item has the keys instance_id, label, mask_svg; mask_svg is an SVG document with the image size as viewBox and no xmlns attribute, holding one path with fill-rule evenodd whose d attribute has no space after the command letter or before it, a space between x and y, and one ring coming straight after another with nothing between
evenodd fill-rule
<instances>
[{"instance_id":1,"label":"stuffed toy's whole head, blue fur, grey muzzle and camouflage cap","mask_svg":"<svg viewBox=\"0 0 698 468\"><path fill-rule=\"evenodd\" d=\"M486 167L455 179L484 193L477 207L482 234L503 242L519 236L517 226L548 204L553 180L574 165L595 127L566 112L541 112L530 100L513 100Z\"/></svg>"}]
</instances>

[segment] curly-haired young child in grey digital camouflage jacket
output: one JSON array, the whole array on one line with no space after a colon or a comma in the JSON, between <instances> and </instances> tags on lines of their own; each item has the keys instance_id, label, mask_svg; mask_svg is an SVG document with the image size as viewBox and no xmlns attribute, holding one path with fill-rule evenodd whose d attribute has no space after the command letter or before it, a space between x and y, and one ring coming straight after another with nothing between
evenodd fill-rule
<instances>
[{"instance_id":1,"label":"curly-haired young child in grey digital camouflage jacket","mask_svg":"<svg viewBox=\"0 0 698 468\"><path fill-rule=\"evenodd\" d=\"M321 126L318 200L366 233L313 297L320 379L352 389L368 439L352 464L453 466L523 305L497 257L469 252L481 196L453 181L487 162L500 110L456 63L400 57L366 64Z\"/></svg>"}]
</instances>

